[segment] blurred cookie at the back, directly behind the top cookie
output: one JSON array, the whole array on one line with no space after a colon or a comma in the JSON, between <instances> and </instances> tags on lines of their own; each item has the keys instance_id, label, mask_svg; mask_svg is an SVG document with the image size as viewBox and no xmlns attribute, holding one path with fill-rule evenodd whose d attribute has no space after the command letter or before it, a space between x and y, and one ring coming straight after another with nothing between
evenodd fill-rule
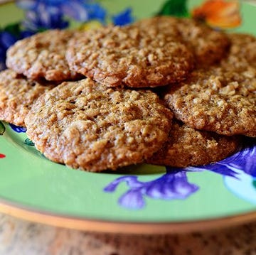
<instances>
[{"instance_id":1,"label":"blurred cookie at the back, directly behind the top cookie","mask_svg":"<svg viewBox=\"0 0 256 255\"><path fill-rule=\"evenodd\" d=\"M192 18L157 16L138 21L134 23L134 26L165 34L169 33L170 28L176 28L180 33L181 40L191 49L196 58L195 62L199 65L217 63L226 54L230 45L225 33L215 31Z\"/></svg>"}]
</instances>

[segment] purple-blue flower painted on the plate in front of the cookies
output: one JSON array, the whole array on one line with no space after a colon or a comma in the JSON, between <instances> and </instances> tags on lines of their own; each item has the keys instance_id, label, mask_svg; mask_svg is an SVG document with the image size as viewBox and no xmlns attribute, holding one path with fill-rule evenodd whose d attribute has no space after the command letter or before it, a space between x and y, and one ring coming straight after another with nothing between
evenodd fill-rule
<instances>
[{"instance_id":1,"label":"purple-blue flower painted on the plate in front of the cookies","mask_svg":"<svg viewBox=\"0 0 256 255\"><path fill-rule=\"evenodd\" d=\"M166 167L166 173L164 175L156 180L146 182L139 181L138 176L123 176L112 181L112 183L104 188L104 191L114 192L120 183L126 183L128 190L119 197L119 205L128 209L142 209L146 205L145 197L161 200L181 200L193 195L193 193L199 190L199 187L196 184L188 182L187 173L198 173L203 170L210 170L223 175L224 180L229 178L229 180L235 180L238 183L242 183L245 180L243 175L248 175L251 179L255 178L256 180L255 140L245 141L245 145L238 153L218 163L188 168ZM253 188L251 187L252 184L254 185L251 181L250 189ZM248 185L248 182L246 185ZM256 186L256 182L254 186ZM230 188L230 190L232 189ZM256 195L256 190L253 194ZM252 202L252 200L250 201ZM253 202L256 203L256 199Z\"/></svg>"}]
</instances>

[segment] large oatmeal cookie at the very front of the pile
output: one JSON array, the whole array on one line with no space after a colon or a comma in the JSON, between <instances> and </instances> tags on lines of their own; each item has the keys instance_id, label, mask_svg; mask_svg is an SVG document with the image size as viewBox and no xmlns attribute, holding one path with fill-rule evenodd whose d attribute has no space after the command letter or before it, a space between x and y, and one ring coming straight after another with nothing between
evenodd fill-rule
<instances>
[{"instance_id":1,"label":"large oatmeal cookie at the very front of the pile","mask_svg":"<svg viewBox=\"0 0 256 255\"><path fill-rule=\"evenodd\" d=\"M28 137L52 161L98 172L141 163L166 141L173 114L154 92L63 82L26 116Z\"/></svg>"}]
</instances>

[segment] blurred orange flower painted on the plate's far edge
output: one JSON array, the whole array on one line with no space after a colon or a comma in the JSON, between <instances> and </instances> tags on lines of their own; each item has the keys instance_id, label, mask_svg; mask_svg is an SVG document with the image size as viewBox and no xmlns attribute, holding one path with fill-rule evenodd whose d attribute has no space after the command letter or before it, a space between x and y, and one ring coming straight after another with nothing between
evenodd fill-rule
<instances>
[{"instance_id":1,"label":"blurred orange flower painted on the plate's far edge","mask_svg":"<svg viewBox=\"0 0 256 255\"><path fill-rule=\"evenodd\" d=\"M238 1L208 0L192 16L215 28L235 28L242 22L239 7Z\"/></svg>"}]
</instances>

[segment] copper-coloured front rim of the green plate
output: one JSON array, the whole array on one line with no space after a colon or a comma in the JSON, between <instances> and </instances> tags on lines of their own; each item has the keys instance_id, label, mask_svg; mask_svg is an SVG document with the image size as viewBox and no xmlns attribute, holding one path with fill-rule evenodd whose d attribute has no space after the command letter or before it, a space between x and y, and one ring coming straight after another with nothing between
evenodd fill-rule
<instances>
[{"instance_id":1,"label":"copper-coloured front rim of the green plate","mask_svg":"<svg viewBox=\"0 0 256 255\"><path fill-rule=\"evenodd\" d=\"M110 234L186 234L235 227L256 219L255 210L233 216L183 222L111 221L89 217L70 217L47 210L36 210L33 207L18 204L18 202L10 202L2 197L0 197L0 212L28 222L46 224L52 227Z\"/></svg>"}]
</instances>

